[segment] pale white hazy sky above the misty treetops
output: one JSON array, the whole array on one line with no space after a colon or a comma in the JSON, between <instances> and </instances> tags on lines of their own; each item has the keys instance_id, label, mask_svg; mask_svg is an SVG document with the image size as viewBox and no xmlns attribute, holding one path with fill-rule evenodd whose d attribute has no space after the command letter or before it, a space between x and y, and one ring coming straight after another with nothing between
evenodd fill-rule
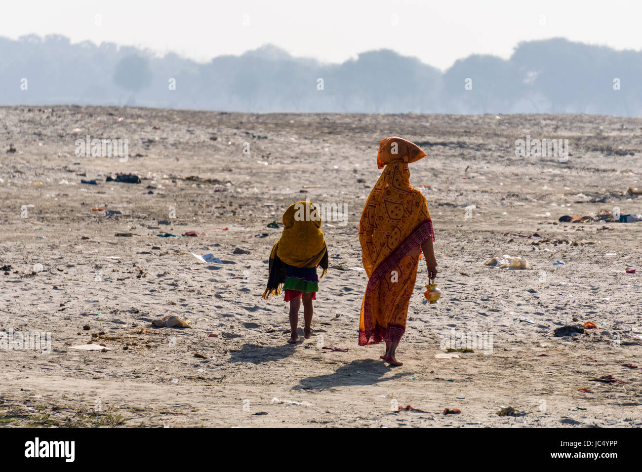
<instances>
[{"instance_id":1,"label":"pale white hazy sky above the misty treetops","mask_svg":"<svg viewBox=\"0 0 642 472\"><path fill-rule=\"evenodd\" d=\"M440 69L551 37L642 48L639 0L3 0L0 13L0 35L12 39L57 33L199 62L267 43L323 62L389 48Z\"/></svg>"}]
</instances>

